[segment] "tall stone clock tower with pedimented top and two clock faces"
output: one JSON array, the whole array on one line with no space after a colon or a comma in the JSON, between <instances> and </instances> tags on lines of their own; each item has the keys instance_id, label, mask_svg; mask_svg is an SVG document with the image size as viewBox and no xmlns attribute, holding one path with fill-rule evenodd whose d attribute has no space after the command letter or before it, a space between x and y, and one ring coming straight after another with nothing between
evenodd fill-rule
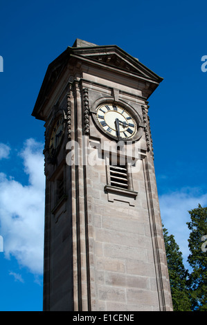
<instances>
[{"instance_id":1,"label":"tall stone clock tower with pedimented top and two clock faces","mask_svg":"<svg viewBox=\"0 0 207 325\"><path fill-rule=\"evenodd\" d=\"M49 66L44 310L172 310L148 98L162 78L76 39Z\"/></svg>"}]
</instances>

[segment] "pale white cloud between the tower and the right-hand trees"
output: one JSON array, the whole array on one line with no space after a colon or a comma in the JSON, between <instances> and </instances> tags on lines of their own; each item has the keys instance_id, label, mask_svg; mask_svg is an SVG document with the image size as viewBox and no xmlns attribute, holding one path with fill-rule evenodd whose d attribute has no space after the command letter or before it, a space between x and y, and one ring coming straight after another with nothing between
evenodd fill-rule
<instances>
[{"instance_id":1,"label":"pale white cloud between the tower and the right-hand trees","mask_svg":"<svg viewBox=\"0 0 207 325\"><path fill-rule=\"evenodd\" d=\"M183 253L183 262L187 261L188 230L187 222L190 221L189 210L195 209L200 203L201 206L207 205L207 194L201 194L197 188L183 188L180 191L163 194L159 196L161 208L161 218L169 234L174 235L174 239Z\"/></svg>"}]
</instances>

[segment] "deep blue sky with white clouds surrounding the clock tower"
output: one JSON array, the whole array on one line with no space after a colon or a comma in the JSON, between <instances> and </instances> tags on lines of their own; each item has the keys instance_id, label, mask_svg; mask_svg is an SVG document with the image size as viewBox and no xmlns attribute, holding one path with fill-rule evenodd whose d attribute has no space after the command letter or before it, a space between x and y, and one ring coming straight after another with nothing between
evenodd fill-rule
<instances>
[{"instance_id":1,"label":"deep blue sky with white clouds surrounding the clock tower","mask_svg":"<svg viewBox=\"0 0 207 325\"><path fill-rule=\"evenodd\" d=\"M188 210L207 205L206 1L0 0L0 310L42 310L46 68L76 38L116 44L164 78L150 97L161 216L188 257ZM0 69L1 71L1 69Z\"/></svg>"}]
</instances>

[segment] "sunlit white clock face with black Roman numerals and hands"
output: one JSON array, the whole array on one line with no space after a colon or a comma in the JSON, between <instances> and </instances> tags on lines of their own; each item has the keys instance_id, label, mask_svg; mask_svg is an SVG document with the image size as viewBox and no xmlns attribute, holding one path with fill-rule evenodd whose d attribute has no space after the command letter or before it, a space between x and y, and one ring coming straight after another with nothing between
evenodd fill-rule
<instances>
[{"instance_id":1,"label":"sunlit white clock face with black Roman numerals and hands","mask_svg":"<svg viewBox=\"0 0 207 325\"><path fill-rule=\"evenodd\" d=\"M98 124L107 135L117 140L132 139L137 131L133 115L116 104L102 104L96 109Z\"/></svg>"}]
</instances>

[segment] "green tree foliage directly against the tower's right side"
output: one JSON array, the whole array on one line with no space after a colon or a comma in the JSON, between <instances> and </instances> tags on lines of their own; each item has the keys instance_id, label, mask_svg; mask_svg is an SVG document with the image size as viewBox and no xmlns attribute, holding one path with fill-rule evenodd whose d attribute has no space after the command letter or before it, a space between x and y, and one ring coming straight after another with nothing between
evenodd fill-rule
<instances>
[{"instance_id":1,"label":"green tree foliage directly against the tower's right side","mask_svg":"<svg viewBox=\"0 0 207 325\"><path fill-rule=\"evenodd\" d=\"M172 305L174 311L190 311L190 297L188 294L188 270L183 266L182 253L179 245L171 234L163 228L165 250L168 261Z\"/></svg>"}]
</instances>

